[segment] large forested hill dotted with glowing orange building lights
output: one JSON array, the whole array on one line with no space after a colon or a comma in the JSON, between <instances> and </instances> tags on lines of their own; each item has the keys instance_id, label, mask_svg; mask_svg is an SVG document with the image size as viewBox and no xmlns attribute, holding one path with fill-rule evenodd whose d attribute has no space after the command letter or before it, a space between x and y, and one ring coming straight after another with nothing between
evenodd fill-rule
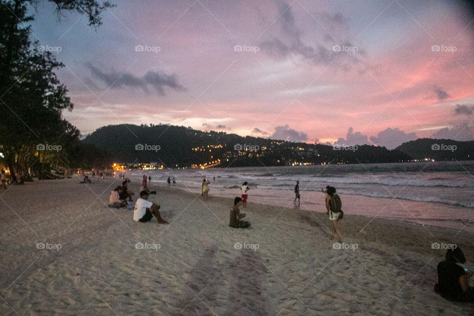
<instances>
[{"instance_id":1,"label":"large forested hill dotted with glowing orange building lights","mask_svg":"<svg viewBox=\"0 0 474 316\"><path fill-rule=\"evenodd\" d=\"M387 150L385 147L334 148L161 124L104 126L83 142L111 153L116 162L158 162L165 167L190 167L205 163L206 166L213 164L221 167L371 163L410 159L398 150Z\"/></svg>"}]
</instances>

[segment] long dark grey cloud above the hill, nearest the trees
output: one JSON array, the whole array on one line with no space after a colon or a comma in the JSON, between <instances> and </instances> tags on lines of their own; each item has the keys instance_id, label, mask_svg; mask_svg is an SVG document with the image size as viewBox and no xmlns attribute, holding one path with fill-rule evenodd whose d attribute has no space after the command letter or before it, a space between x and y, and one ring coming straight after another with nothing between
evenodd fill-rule
<instances>
[{"instance_id":1,"label":"long dark grey cloud above the hill, nearest the trees","mask_svg":"<svg viewBox=\"0 0 474 316\"><path fill-rule=\"evenodd\" d=\"M142 78L136 77L129 73L104 73L100 69L87 63L86 66L90 69L92 74L103 81L107 86L111 88L142 88L144 91L148 91L148 86L153 86L159 94L164 95L163 87L168 86L175 90L184 90L184 87L179 83L174 75L166 75L160 72L149 71Z\"/></svg>"}]
</instances>

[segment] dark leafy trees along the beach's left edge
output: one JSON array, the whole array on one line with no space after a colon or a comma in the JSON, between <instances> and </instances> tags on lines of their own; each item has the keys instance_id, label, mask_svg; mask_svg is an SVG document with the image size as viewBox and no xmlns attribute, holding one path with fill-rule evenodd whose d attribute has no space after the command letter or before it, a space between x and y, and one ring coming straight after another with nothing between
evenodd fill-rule
<instances>
[{"instance_id":1,"label":"dark leafy trees along the beach's left edge","mask_svg":"<svg viewBox=\"0 0 474 316\"><path fill-rule=\"evenodd\" d=\"M89 25L101 24L101 12L113 5L95 0L49 0L58 17L78 12ZM54 73L63 67L49 51L32 41L28 9L36 0L1 0L0 3L0 164L12 180L32 170L61 166L71 169L109 165L107 154L79 141L79 130L62 118L72 111L68 90Z\"/></svg>"}]
</instances>

